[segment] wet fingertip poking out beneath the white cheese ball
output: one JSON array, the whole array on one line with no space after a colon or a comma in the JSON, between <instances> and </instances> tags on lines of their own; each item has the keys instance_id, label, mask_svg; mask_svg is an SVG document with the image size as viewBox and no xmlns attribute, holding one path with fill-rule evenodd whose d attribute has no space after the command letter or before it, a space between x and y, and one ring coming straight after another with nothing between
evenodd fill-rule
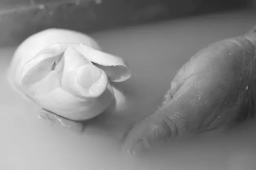
<instances>
[{"instance_id":1,"label":"wet fingertip poking out beneath the white cheese ball","mask_svg":"<svg viewBox=\"0 0 256 170\"><path fill-rule=\"evenodd\" d=\"M49 120L50 122L61 125L62 127L69 128L76 133L82 133L84 131L84 126L81 122L66 119L45 109L41 110L39 118Z\"/></svg>"}]
</instances>

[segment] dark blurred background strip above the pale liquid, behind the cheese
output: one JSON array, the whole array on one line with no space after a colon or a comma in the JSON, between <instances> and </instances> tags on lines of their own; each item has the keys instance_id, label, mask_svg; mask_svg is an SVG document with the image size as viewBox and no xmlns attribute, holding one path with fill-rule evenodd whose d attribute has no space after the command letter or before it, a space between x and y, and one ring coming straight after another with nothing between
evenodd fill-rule
<instances>
[{"instance_id":1,"label":"dark blurred background strip above the pale liquid, behind the cheese","mask_svg":"<svg viewBox=\"0 0 256 170\"><path fill-rule=\"evenodd\" d=\"M1 0L0 46L17 45L46 28L85 33L177 17L246 8L252 0ZM52 3L53 2L53 3ZM55 4L54 4L55 2ZM62 2L62 4L60 4ZM75 3L76 2L76 3ZM13 8L50 3L41 9L10 12ZM57 5L58 4L58 5Z\"/></svg>"}]
</instances>

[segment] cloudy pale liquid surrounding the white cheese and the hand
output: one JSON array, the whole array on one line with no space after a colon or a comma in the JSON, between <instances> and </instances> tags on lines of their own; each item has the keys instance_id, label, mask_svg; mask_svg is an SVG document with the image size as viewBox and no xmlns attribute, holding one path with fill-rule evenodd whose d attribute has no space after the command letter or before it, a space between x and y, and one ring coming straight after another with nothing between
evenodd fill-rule
<instances>
[{"instance_id":1,"label":"cloudy pale liquid surrounding the white cheese and the hand","mask_svg":"<svg viewBox=\"0 0 256 170\"><path fill-rule=\"evenodd\" d=\"M126 88L130 109L87 122L83 135L37 119L40 108L15 93L6 81L15 48L1 49L0 169L255 169L254 120L228 132L212 131L152 150L143 158L121 156L118 143L127 127L157 109L184 62L212 42L244 33L255 25L254 16L236 12L92 35L106 52L129 63L132 77L120 85Z\"/></svg>"}]
</instances>

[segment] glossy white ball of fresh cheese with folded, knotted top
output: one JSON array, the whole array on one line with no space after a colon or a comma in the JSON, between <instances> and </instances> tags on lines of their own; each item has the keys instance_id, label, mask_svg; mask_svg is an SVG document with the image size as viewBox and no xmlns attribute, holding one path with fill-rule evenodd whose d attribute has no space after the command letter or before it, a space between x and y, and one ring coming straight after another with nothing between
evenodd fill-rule
<instances>
[{"instance_id":1,"label":"glossy white ball of fresh cheese with folded, knotted top","mask_svg":"<svg viewBox=\"0 0 256 170\"><path fill-rule=\"evenodd\" d=\"M27 38L15 51L9 70L9 80L20 94L72 120L105 111L113 97L120 98L110 82L130 77L122 58L101 51L87 35L62 29Z\"/></svg>"}]
</instances>

